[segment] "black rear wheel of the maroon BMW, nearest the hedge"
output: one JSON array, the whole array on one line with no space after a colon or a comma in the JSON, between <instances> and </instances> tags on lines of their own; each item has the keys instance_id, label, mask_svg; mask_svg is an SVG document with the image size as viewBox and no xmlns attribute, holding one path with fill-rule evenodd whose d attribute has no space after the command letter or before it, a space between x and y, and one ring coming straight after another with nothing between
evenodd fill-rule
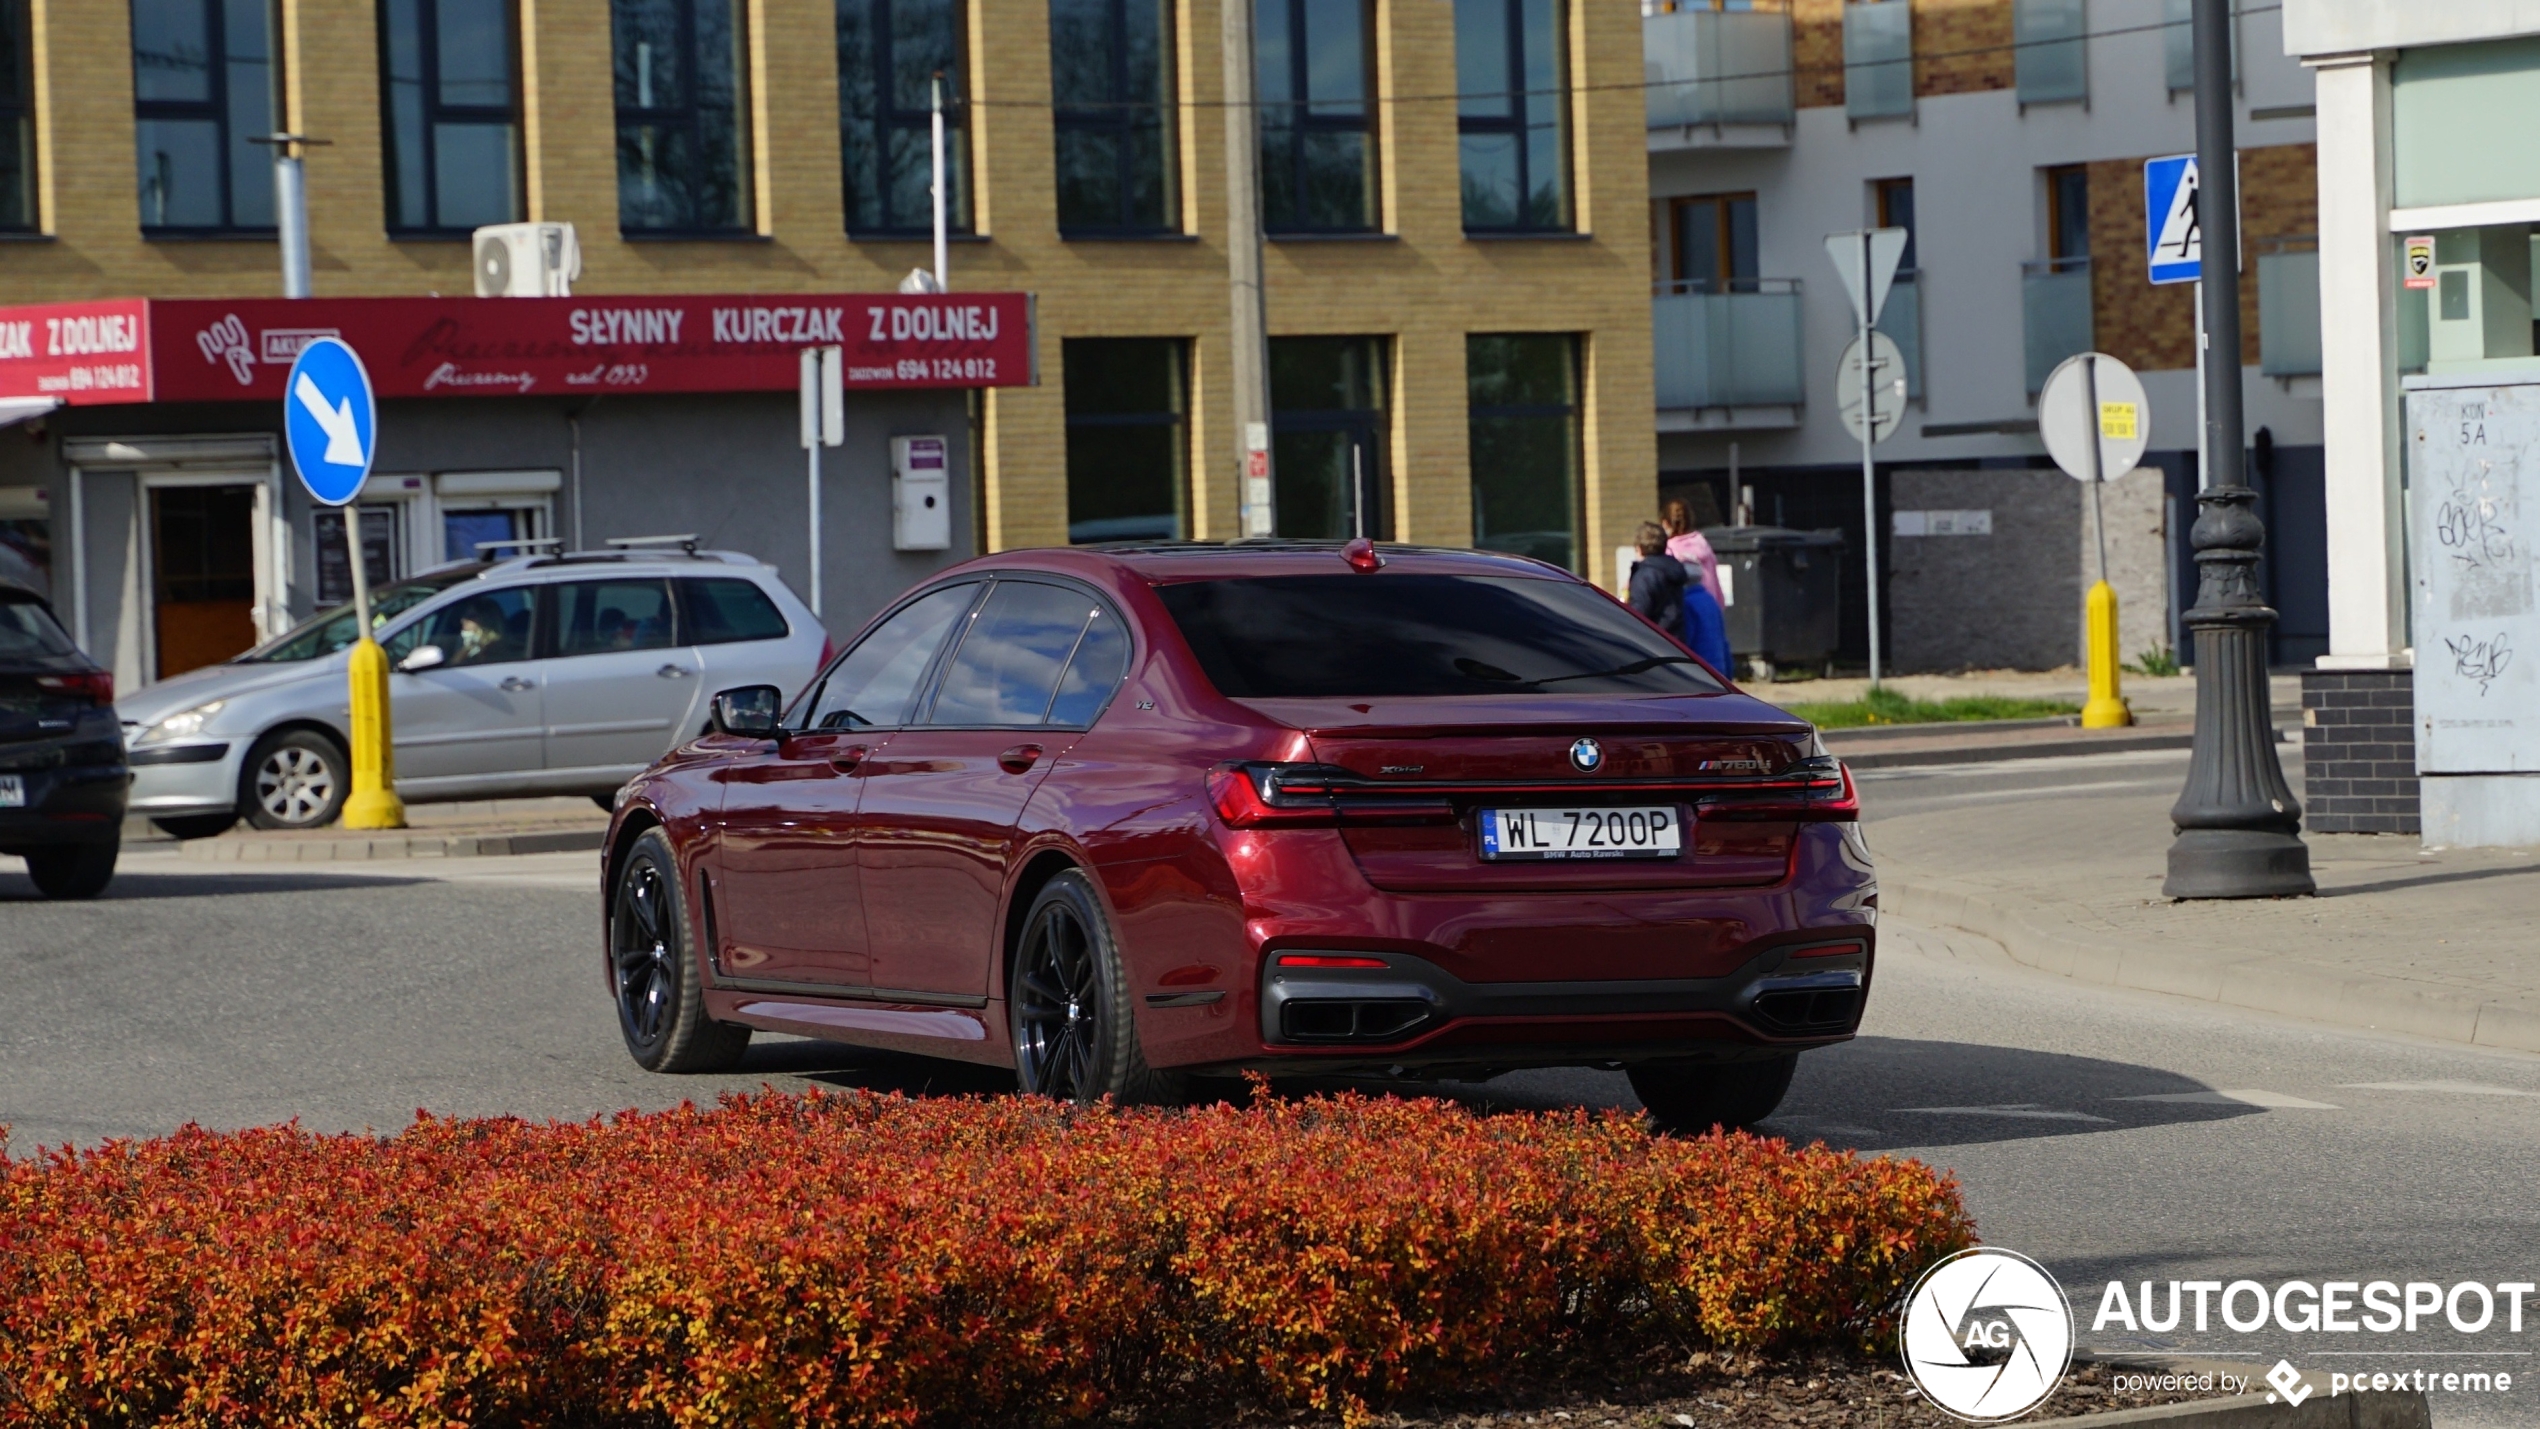
<instances>
[{"instance_id":1,"label":"black rear wheel of the maroon BMW, nearest the hedge","mask_svg":"<svg viewBox=\"0 0 2540 1429\"><path fill-rule=\"evenodd\" d=\"M1181 1104L1186 1079L1151 1069L1138 1046L1120 944L1085 873L1059 873L1031 901L1006 992L1013 1076L1026 1096Z\"/></svg>"}]
</instances>

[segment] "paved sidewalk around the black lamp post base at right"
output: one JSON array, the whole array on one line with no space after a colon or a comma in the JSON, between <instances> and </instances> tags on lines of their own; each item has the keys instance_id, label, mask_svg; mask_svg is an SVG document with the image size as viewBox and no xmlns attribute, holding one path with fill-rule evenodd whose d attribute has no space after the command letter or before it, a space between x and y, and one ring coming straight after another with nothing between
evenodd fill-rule
<instances>
[{"instance_id":1,"label":"paved sidewalk around the black lamp post base at right","mask_svg":"<svg viewBox=\"0 0 2540 1429\"><path fill-rule=\"evenodd\" d=\"M2316 899L2162 899L2174 792L1880 817L1880 909L2017 962L2291 1018L2540 1051L2540 850L2309 835Z\"/></svg>"}]
</instances>

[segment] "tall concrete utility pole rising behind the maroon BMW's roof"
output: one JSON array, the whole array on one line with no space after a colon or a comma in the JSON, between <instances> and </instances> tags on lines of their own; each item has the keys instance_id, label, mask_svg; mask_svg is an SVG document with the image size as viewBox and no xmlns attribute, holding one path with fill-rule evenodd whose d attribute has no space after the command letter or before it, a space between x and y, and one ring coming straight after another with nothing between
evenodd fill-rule
<instances>
[{"instance_id":1,"label":"tall concrete utility pole rising behind the maroon BMW's roof","mask_svg":"<svg viewBox=\"0 0 2540 1429\"><path fill-rule=\"evenodd\" d=\"M1234 322L1234 492L1240 536L1278 533L1270 472L1270 302L1262 292L1262 142L1252 69L1252 0L1222 0L1227 61L1227 289Z\"/></svg>"}]
</instances>

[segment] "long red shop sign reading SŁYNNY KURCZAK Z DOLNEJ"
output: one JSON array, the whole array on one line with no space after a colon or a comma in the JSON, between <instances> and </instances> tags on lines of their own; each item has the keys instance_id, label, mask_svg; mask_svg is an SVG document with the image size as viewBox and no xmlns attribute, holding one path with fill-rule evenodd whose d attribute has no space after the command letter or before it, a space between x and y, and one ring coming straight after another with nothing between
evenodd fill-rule
<instances>
[{"instance_id":1,"label":"long red shop sign reading S\u0141YNNY KURCZAK Z DOLNEJ","mask_svg":"<svg viewBox=\"0 0 2540 1429\"><path fill-rule=\"evenodd\" d=\"M792 391L800 350L851 388L1031 386L1031 297L249 297L0 310L0 396L282 401L312 338L361 353L378 396Z\"/></svg>"}]
</instances>

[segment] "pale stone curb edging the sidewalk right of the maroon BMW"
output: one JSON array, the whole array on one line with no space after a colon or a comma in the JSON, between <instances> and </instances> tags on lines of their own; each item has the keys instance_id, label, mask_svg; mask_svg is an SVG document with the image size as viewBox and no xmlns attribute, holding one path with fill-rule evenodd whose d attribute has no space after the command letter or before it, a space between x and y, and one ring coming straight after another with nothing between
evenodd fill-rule
<instances>
[{"instance_id":1,"label":"pale stone curb edging the sidewalk right of the maroon BMW","mask_svg":"<svg viewBox=\"0 0 2540 1429\"><path fill-rule=\"evenodd\" d=\"M2400 977L2311 972L2281 954L2085 934L2052 909L1946 878L1882 878L1880 909L1908 924L1966 929L2014 962L2080 982L2106 982L2230 1008L2398 1031L2423 1038L2540 1051L2540 1003L2479 998Z\"/></svg>"}]
</instances>

